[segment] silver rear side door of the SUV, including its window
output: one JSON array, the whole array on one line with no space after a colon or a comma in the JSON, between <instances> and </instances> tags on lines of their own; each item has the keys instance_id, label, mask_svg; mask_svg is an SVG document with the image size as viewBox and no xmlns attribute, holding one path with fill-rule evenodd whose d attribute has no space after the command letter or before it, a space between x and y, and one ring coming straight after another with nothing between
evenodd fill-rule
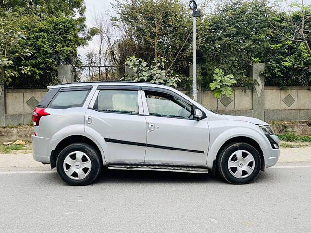
<instances>
[{"instance_id":1,"label":"silver rear side door of the SUV, including its window","mask_svg":"<svg viewBox=\"0 0 311 233\"><path fill-rule=\"evenodd\" d=\"M99 86L86 117L86 133L104 138L106 162L144 162L147 125L138 86Z\"/></svg>"}]
</instances>

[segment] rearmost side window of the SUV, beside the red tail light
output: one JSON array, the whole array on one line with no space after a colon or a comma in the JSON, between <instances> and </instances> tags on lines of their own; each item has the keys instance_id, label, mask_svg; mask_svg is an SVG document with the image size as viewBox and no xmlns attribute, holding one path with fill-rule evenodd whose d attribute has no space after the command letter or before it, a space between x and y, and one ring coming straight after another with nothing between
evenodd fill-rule
<instances>
[{"instance_id":1,"label":"rearmost side window of the SUV, beside the red tail light","mask_svg":"<svg viewBox=\"0 0 311 233\"><path fill-rule=\"evenodd\" d=\"M75 108L82 107L89 90L60 91L56 94L49 108Z\"/></svg>"}]
</instances>

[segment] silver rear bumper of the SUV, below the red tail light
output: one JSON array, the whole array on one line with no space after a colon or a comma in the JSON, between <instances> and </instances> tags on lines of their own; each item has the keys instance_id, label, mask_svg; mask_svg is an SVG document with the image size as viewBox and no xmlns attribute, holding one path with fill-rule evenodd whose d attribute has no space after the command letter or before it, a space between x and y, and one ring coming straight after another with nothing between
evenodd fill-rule
<instances>
[{"instance_id":1,"label":"silver rear bumper of the SUV, below the red tail light","mask_svg":"<svg viewBox=\"0 0 311 233\"><path fill-rule=\"evenodd\" d=\"M33 145L34 160L41 163L50 164L51 151L55 149L59 141L50 138L38 137L35 135L31 136L31 141Z\"/></svg>"}]
</instances>

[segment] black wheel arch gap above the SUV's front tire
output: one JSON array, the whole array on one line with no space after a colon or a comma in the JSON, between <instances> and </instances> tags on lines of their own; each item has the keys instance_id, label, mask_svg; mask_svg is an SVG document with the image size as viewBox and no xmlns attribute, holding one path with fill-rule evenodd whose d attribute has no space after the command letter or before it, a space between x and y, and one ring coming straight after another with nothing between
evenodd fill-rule
<instances>
[{"instance_id":1,"label":"black wheel arch gap above the SUV's front tire","mask_svg":"<svg viewBox=\"0 0 311 233\"><path fill-rule=\"evenodd\" d=\"M217 167L217 161L218 158L220 156L220 152L223 150L223 148L225 148L227 145L231 144L231 143L236 143L236 142L244 142L247 143L251 146L253 146L260 155L260 160L261 160L261 170L264 171L264 167L265 167L265 161L264 161L264 155L263 155L263 151L259 145L258 142L256 142L254 139L250 138L250 137L246 137L246 136L237 136L237 137L233 137L228 139L227 141L225 141L225 143L223 143L223 145L219 148L216 158L213 161L213 168L212 168L212 172L215 173L216 172L216 167Z\"/></svg>"}]
</instances>

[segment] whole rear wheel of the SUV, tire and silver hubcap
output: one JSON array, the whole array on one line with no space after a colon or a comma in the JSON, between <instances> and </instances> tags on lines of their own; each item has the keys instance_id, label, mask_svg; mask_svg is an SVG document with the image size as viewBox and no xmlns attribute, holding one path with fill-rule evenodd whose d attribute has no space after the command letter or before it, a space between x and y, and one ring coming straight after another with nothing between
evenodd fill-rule
<instances>
[{"instance_id":1,"label":"whole rear wheel of the SUV, tire and silver hubcap","mask_svg":"<svg viewBox=\"0 0 311 233\"><path fill-rule=\"evenodd\" d=\"M83 186L92 183L99 175L102 161L98 152L86 143L74 143L58 155L57 172L69 185Z\"/></svg>"}]
</instances>

